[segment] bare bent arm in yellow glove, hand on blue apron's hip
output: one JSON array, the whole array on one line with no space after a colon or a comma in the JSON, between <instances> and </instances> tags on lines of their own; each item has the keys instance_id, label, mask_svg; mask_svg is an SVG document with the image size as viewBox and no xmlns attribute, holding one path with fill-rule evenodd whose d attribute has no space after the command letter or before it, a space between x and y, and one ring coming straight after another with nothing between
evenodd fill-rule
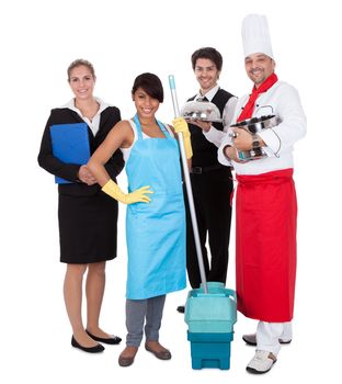
<instances>
[{"instance_id":1,"label":"bare bent arm in yellow glove, hand on blue apron's hip","mask_svg":"<svg viewBox=\"0 0 342 384\"><path fill-rule=\"evenodd\" d=\"M98 183L102 187L102 191L111 197L124 204L137 202L148 203L150 199L146 194L152 193L149 187L142 187L132 193L124 193L110 178L104 167L115 150L121 147L130 147L133 140L134 137L129 123L125 121L117 123L109 133L105 140L94 151L87 166Z\"/></svg>"}]
</instances>

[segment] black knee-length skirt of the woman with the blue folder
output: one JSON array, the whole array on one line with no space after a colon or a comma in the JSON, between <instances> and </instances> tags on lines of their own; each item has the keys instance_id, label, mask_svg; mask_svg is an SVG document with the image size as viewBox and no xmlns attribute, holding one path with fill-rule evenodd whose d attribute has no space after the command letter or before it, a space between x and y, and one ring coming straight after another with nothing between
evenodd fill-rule
<instances>
[{"instance_id":1,"label":"black knee-length skirt of the woman with the blue folder","mask_svg":"<svg viewBox=\"0 0 342 384\"><path fill-rule=\"evenodd\" d=\"M59 194L60 261L92 263L116 257L117 202L99 191L94 195Z\"/></svg>"}]
</instances>

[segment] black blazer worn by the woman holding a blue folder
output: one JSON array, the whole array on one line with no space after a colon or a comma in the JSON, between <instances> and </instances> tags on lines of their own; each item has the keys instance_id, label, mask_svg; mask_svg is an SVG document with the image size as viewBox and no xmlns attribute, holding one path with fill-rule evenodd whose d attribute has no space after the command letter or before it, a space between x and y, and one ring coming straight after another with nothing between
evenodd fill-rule
<instances>
[{"instance_id":1,"label":"black blazer worn by the woman holding a blue folder","mask_svg":"<svg viewBox=\"0 0 342 384\"><path fill-rule=\"evenodd\" d=\"M99 132L94 136L92 131L88 128L90 153L93 154L100 144L105 139L113 126L121 121L121 113L116 106L109 106L101 112ZM54 157L49 127L54 124L72 124L84 123L84 121L75 111L68 108L58 108L52 110L50 116L45 126L42 138L41 150L38 155L38 163L48 172L56 174L62 179L72 181L71 184L59 184L58 192L69 195L93 195L101 189L99 184L87 185L78 179L78 172L81 165L66 163ZM112 158L106 162L105 169L113 180L124 168L124 158L121 150L116 150Z\"/></svg>"}]
</instances>

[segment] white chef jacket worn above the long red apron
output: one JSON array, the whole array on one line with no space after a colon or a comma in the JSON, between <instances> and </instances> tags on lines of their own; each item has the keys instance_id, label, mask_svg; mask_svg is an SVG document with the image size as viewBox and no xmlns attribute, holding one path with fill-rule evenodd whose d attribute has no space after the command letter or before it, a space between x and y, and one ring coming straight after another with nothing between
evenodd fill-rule
<instances>
[{"instance_id":1,"label":"white chef jacket worn above the long red apron","mask_svg":"<svg viewBox=\"0 0 342 384\"><path fill-rule=\"evenodd\" d=\"M232 124L237 122L243 106L248 102L249 94L239 99ZM224 155L224 148L232 145L229 136L231 128L221 142L218 149L218 161L225 166L232 166L238 174L260 174L270 171L293 168L294 144L306 134L306 116L301 108L297 90L283 81L277 81L266 92L261 93L255 101L253 117L274 114L278 125L258 133L263 139L269 157L248 162L236 162Z\"/></svg>"}]
</instances>

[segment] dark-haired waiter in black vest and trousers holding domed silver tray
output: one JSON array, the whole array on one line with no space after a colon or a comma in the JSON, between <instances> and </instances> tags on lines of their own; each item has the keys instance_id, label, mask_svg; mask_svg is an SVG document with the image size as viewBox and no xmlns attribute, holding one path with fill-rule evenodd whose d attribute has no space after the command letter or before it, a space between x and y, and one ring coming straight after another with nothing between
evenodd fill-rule
<instances>
[{"instance_id":1,"label":"dark-haired waiter in black vest and trousers holding domed silver tray","mask_svg":"<svg viewBox=\"0 0 342 384\"><path fill-rule=\"evenodd\" d=\"M223 68L223 57L219 52L212 47L201 48L193 53L191 60L200 83L200 92L187 101L202 100L214 103L225 122L224 127L223 123L192 121L189 128L193 148L191 184L206 279L226 283L232 179L230 168L225 168L218 162L217 148L230 125L237 98L217 84ZM201 284L201 275L186 199L185 205L187 276L191 286L197 289ZM207 235L212 255L210 263L205 247ZM183 313L184 306L179 306L178 310Z\"/></svg>"}]
</instances>

